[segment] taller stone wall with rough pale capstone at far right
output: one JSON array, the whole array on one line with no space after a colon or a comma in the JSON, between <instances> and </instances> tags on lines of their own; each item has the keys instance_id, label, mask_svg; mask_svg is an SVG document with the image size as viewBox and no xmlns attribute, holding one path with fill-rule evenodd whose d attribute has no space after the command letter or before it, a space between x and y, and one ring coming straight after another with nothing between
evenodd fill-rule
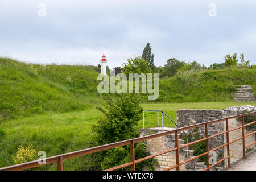
<instances>
[{"instance_id":1,"label":"taller stone wall with rough pale capstone at far right","mask_svg":"<svg viewBox=\"0 0 256 182\"><path fill-rule=\"evenodd\" d=\"M214 119L219 118L225 118L225 117L232 117L233 115L238 115L246 112L256 111L256 108L253 106L233 106L228 107L223 110L177 110L177 125L180 127L183 126L189 126L189 125L195 125L196 123L202 123L211 121ZM241 126L241 119L229 119L229 130L234 129L235 127ZM222 131L226 130L226 124L224 122L218 122L213 123L212 125L209 125L208 127L208 135L214 135L217 133L221 133ZM254 131L253 129L248 129L248 127L245 127L245 135L249 134ZM191 132L191 131L190 131ZM204 127L199 128L199 134L204 137ZM229 133L229 141L235 140L237 138L242 137L242 129L234 130ZM255 134L250 135L249 137L245 138L245 146L255 141ZM216 148L218 146L221 146L222 144L226 143L226 134L219 135L217 137L214 137L212 139L209 139L209 149ZM249 147L250 150L253 150L255 148L255 145ZM248 150L247 150L248 151ZM216 150L217 155L217 161L225 158L227 156L227 148L222 147L218 150ZM242 150L242 140L238 140L237 142L234 142L230 144L230 162L236 162L236 160L241 159L243 156L243 150ZM219 166L224 167L227 165L227 160L225 162L222 162Z\"/></svg>"}]
</instances>

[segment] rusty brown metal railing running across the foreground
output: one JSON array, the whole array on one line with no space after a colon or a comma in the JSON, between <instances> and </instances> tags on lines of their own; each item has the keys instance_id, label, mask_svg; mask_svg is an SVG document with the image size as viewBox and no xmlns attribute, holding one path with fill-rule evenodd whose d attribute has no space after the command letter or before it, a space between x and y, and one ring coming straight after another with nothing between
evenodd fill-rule
<instances>
[{"instance_id":1,"label":"rusty brown metal railing running across the foreground","mask_svg":"<svg viewBox=\"0 0 256 182\"><path fill-rule=\"evenodd\" d=\"M254 115L254 121L250 122L250 123L247 123L245 125L244 117L246 115ZM239 126L239 127L234 128L234 129L229 130L229 125L228 125L229 119L240 118L240 117L242 117L242 125ZM225 123L226 123L226 131L223 131L221 133L217 133L217 134L209 136L208 135L208 126L210 124L217 123L217 122L222 122L222 121L225 121ZM253 124L255 126L254 131L245 135L245 127L249 126L249 125L253 125ZM190 143L183 144L183 145L179 146L179 133L184 131L184 130L191 130L191 129L194 129L194 128L197 128L197 127L204 127L205 128L205 138L202 138L202 139L196 140L194 142L190 142ZM237 129L242 129L242 137L237 138L237 139L232 140L231 142L229 142L229 133L231 131L234 131L234 130L237 130ZM256 112L251 112L251 113L246 113L246 114L235 115L235 116L232 116L232 117L216 119L216 120L208 121L208 122L204 122L204 123L199 123L199 124L196 124L196 125L180 127L180 128L175 129L175 130L164 131L162 133L147 135L145 137L139 137L139 138L124 140L124 141L121 141L121 142L105 144L103 146L86 148L84 150L69 152L67 154L52 156L52 157L49 157L49 158L45 158L45 161L46 161L46 164L57 163L57 170L62 171L63 170L63 160L76 158L76 157L79 157L79 156L88 155L88 154L92 154L92 153L99 152L99 151L108 150L110 148L130 145L130 162L119 165L119 166L115 166L115 167L110 168L110 169L107 169L108 171L120 169L120 168L127 167L127 166L130 166L131 170L135 170L135 164L136 163L139 163L139 162L142 162L144 160L151 159L151 158L154 158L156 156L166 154L166 153L172 152L172 151L176 152L176 164L174 166L170 166L170 167L166 168L165 169L166 171L174 169L174 168L176 168L176 170L179 171L181 165L183 165L187 162L190 162L191 160L200 158L201 156L204 156L204 155L207 156L207 168L205 168L204 170L209 170L210 168L212 168L216 164L221 163L222 161L224 161L226 159L228 159L228 168L230 168L230 149L229 149L229 145L242 139L243 158L245 159L246 158L245 149L252 146L253 144L256 144L256 134L255 133L256 133ZM170 134L175 134L175 147L174 148L171 148L169 150L162 151L162 152L159 152L157 154L146 156L144 158L135 160L134 143L138 143L138 142L142 142L144 140L153 139L153 138L157 138L157 137L162 137L162 136L170 135ZM213 137L217 137L218 135L222 135L222 134L226 134L226 143L224 143L221 146L218 146L216 148L213 148L212 150L209 150L209 139L213 138ZM252 143L248 144L247 146L245 146L245 138L252 135L252 134L255 134L255 142L252 142ZM190 158L188 160L185 160L184 162L179 161L179 150L181 148L191 146L192 144L202 142L202 141L206 141L206 152L204 152L203 154L197 155L193 158ZM210 164L209 164L209 153L212 152L212 151L218 150L219 148L225 147L225 146L227 147L227 156L210 166ZM31 161L31 162L27 162L27 163L16 164L14 166L3 167L3 168L0 168L0 171L24 170L24 169L28 169L28 168L43 166L43 165L46 165L46 164L39 164L38 160L34 160L34 161Z\"/></svg>"}]
</instances>

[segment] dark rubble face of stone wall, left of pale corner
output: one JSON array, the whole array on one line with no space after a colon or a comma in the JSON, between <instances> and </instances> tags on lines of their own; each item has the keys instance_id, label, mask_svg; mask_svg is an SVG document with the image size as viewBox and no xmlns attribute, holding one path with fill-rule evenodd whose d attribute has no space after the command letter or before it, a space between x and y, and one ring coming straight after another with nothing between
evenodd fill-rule
<instances>
[{"instance_id":1,"label":"dark rubble face of stone wall, left of pale corner","mask_svg":"<svg viewBox=\"0 0 256 182\"><path fill-rule=\"evenodd\" d=\"M182 109L177 110L177 125L180 127L195 125L197 123L203 123L212 121L214 119L222 118L222 110L216 109ZM213 123L208 126L208 135L214 135L221 133L224 129L224 122ZM205 137L204 127L198 127L195 132L193 130L186 130L186 133L199 133L202 138ZM224 144L224 135L219 135L209 139L209 150L221 146ZM224 148L216 150L216 153L210 154L216 155L217 161L224 158ZM224 167L224 162L218 164L220 167Z\"/></svg>"}]
</instances>

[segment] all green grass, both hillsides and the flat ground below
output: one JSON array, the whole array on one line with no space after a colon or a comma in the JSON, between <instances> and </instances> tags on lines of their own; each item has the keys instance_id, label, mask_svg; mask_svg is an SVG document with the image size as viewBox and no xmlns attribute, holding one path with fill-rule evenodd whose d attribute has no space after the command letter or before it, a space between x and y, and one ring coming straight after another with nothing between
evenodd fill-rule
<instances>
[{"instance_id":1,"label":"all green grass, both hillsides and the flat ground below","mask_svg":"<svg viewBox=\"0 0 256 182\"><path fill-rule=\"evenodd\" d=\"M0 167L13 164L10 155L31 143L47 156L81 150L93 137L91 127L101 116L95 108L97 75L94 67L24 64L0 57ZM226 75L225 75L226 74ZM255 69L205 71L160 80L160 100L144 109L164 110L176 121L177 109L223 109L256 102L229 101L233 84L255 85ZM223 86L223 88L222 88ZM213 90L221 90L212 94ZM159 115L160 121L160 115ZM166 117L164 126L173 124ZM138 129L143 126L139 121ZM146 113L146 127L156 126L156 114ZM83 169L81 158L67 160L65 169ZM47 165L45 169L55 169Z\"/></svg>"}]
</instances>

